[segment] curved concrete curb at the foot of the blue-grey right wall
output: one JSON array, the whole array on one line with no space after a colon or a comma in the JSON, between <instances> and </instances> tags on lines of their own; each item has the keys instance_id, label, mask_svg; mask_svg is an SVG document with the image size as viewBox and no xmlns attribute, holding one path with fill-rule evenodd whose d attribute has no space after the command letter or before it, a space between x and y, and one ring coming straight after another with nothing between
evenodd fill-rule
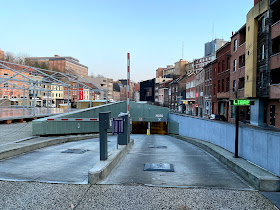
<instances>
[{"instance_id":1,"label":"curved concrete curb at the foot of the blue-grey right wall","mask_svg":"<svg viewBox=\"0 0 280 210\"><path fill-rule=\"evenodd\" d=\"M253 185L257 190L268 192L280 191L280 178L273 175L269 171L266 171L265 169L262 169L241 157L234 158L233 153L210 142L192 139L180 135L170 136L191 143L210 153L251 185Z\"/></svg>"}]
</instances>

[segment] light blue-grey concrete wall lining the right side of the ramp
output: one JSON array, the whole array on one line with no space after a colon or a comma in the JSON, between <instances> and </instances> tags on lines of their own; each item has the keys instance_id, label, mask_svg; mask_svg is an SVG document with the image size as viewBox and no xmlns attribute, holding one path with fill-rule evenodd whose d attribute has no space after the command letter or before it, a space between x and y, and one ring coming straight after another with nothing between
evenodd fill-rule
<instances>
[{"instance_id":1,"label":"light blue-grey concrete wall lining the right side of the ramp","mask_svg":"<svg viewBox=\"0 0 280 210\"><path fill-rule=\"evenodd\" d=\"M179 135L201 139L234 153L235 125L170 114L179 123ZM280 176L280 133L240 126L239 156Z\"/></svg>"}]
</instances>

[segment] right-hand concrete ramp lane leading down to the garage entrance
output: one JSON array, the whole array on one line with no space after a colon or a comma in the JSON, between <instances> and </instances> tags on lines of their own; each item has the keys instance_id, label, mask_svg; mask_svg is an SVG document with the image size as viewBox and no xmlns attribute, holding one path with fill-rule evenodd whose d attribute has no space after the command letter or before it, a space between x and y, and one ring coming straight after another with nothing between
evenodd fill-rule
<instances>
[{"instance_id":1,"label":"right-hand concrete ramp lane leading down to the garage entrance","mask_svg":"<svg viewBox=\"0 0 280 210\"><path fill-rule=\"evenodd\" d=\"M101 184L253 189L204 150L164 135L132 135L130 152ZM166 148L151 148L151 147ZM173 164L174 172L144 171L146 163Z\"/></svg>"}]
</instances>

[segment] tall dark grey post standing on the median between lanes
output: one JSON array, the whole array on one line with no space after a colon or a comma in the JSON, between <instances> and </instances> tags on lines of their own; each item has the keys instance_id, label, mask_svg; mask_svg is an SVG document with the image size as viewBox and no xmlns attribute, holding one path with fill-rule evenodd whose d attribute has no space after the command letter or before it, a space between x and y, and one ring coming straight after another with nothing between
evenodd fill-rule
<instances>
[{"instance_id":1,"label":"tall dark grey post standing on the median between lanes","mask_svg":"<svg viewBox=\"0 0 280 210\"><path fill-rule=\"evenodd\" d=\"M108 158L107 129L111 127L111 112L99 113L99 141L100 141L100 160Z\"/></svg>"}]
</instances>

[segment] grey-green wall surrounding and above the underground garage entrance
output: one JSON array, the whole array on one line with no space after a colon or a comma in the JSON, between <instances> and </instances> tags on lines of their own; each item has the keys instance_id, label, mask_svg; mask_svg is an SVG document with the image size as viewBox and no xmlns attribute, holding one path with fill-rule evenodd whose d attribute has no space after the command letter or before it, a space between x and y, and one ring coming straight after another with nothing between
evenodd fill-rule
<instances>
[{"instance_id":1,"label":"grey-green wall surrounding and above the underground garage entrance","mask_svg":"<svg viewBox=\"0 0 280 210\"><path fill-rule=\"evenodd\" d=\"M33 135L61 135L98 133L98 122L87 121L48 121L48 118L99 118L99 112L111 111L111 117L116 118L121 112L126 112L126 101L106 104L93 108L78 110L70 113L46 117L32 122ZM131 102L130 115L133 121L167 122L169 109L146 103ZM141 119L140 119L141 118ZM111 129L108 130L111 132Z\"/></svg>"}]
</instances>

